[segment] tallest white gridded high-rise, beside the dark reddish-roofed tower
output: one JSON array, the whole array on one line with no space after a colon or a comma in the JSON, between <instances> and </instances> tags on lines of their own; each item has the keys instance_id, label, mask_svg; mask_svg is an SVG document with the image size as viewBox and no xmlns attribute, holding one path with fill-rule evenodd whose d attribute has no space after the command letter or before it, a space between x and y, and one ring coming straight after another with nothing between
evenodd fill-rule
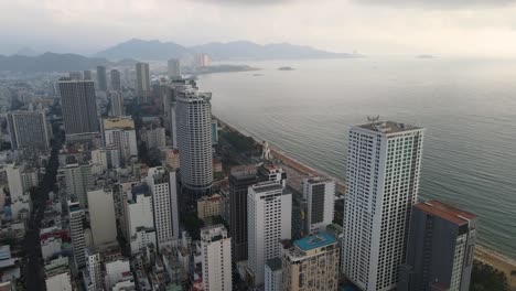
<instances>
[{"instance_id":1,"label":"tallest white gridded high-rise, beside the dark reddish-roofed tower","mask_svg":"<svg viewBox=\"0 0 516 291\"><path fill-rule=\"evenodd\" d=\"M397 287L418 196L423 129L374 121L350 129L343 271L365 291Z\"/></svg>"}]
</instances>

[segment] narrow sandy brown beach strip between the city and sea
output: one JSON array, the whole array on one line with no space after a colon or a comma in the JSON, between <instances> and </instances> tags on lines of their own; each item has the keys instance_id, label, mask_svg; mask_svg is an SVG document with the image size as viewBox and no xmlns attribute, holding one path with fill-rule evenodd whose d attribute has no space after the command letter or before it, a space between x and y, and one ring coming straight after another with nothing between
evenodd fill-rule
<instances>
[{"instance_id":1,"label":"narrow sandy brown beach strip between the city and sea","mask_svg":"<svg viewBox=\"0 0 516 291\"><path fill-rule=\"evenodd\" d=\"M213 116L216 120L218 120L219 126L224 126L228 128L232 131L238 132L243 136L247 136L243 133L240 130L236 129L235 127L228 125L227 122L221 120L218 117ZM255 137L251 137L257 144L261 144L260 141L257 141ZM321 171L318 171L316 169L313 169L309 165L303 164L302 162L289 157L286 152L281 151L280 149L277 149L275 147L270 147L270 152L273 158L280 160L282 163L289 165L293 170L305 174L305 175L323 175L323 176L329 176L327 174L321 173ZM345 193L345 186L344 182L335 179L333 176L329 176L337 182L337 192L338 195L344 195ZM482 245L476 245L475 247L475 259L493 266L495 269L498 269L503 272L506 273L507 276L507 283L510 284L510 272L516 270L516 260L513 260L510 258L505 257L502 254L496 252L495 250L488 249ZM512 288L516 288L516 280L513 280Z\"/></svg>"}]
</instances>

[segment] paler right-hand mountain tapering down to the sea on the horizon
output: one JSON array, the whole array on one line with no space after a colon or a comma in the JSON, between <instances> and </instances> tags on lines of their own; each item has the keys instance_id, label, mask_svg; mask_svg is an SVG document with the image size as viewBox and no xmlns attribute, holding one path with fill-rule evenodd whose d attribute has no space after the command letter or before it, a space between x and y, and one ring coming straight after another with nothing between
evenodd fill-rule
<instances>
[{"instance_id":1,"label":"paler right-hand mountain tapering down to the sea on the horizon","mask_svg":"<svg viewBox=\"0 0 516 291\"><path fill-rule=\"evenodd\" d=\"M191 50L197 53L206 53L214 60L340 58L354 56L345 53L325 52L307 45L294 45L289 43L260 45L247 41L208 43L192 46Z\"/></svg>"}]
</instances>

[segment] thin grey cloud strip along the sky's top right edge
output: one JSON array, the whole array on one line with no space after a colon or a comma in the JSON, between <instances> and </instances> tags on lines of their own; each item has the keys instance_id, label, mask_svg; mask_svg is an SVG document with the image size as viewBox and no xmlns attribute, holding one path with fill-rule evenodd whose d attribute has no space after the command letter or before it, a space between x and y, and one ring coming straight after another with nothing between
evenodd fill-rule
<instances>
[{"instance_id":1,"label":"thin grey cloud strip along the sky's top right edge","mask_svg":"<svg viewBox=\"0 0 516 291\"><path fill-rule=\"evenodd\" d=\"M355 3L376 4L395 8L433 8L433 9L467 9L476 7L505 7L516 3L516 0L352 0Z\"/></svg>"}]
</instances>

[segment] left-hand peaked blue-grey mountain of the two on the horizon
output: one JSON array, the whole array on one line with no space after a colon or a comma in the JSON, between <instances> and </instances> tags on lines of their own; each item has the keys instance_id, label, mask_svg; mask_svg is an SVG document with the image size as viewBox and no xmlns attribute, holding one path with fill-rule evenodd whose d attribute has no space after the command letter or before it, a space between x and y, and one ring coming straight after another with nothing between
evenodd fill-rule
<instances>
[{"instance_id":1,"label":"left-hand peaked blue-grey mountain of the two on the horizon","mask_svg":"<svg viewBox=\"0 0 516 291\"><path fill-rule=\"evenodd\" d=\"M162 61L171 57L183 57L192 52L173 42L142 41L132 39L95 54L108 60L138 58L146 61Z\"/></svg>"}]
</instances>

